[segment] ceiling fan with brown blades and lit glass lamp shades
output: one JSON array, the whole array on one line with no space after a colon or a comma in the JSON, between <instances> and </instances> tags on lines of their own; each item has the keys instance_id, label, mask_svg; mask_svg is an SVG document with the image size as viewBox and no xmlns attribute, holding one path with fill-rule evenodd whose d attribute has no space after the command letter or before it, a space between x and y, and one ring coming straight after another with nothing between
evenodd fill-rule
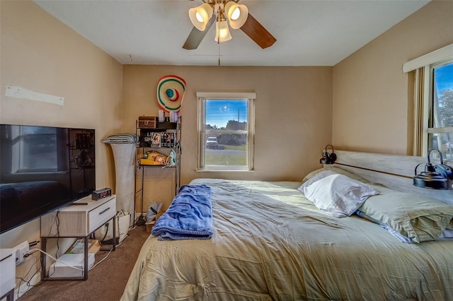
<instances>
[{"instance_id":1,"label":"ceiling fan with brown blades and lit glass lamp shades","mask_svg":"<svg viewBox=\"0 0 453 301\"><path fill-rule=\"evenodd\" d=\"M197 49L212 24L216 23L214 40L225 42L231 40L228 23L231 28L241 28L258 46L265 49L272 46L276 39L261 25L256 18L248 13L245 5L239 0L202 0L204 3L190 8L189 17L194 27L183 45L184 49Z\"/></svg>"}]
</instances>

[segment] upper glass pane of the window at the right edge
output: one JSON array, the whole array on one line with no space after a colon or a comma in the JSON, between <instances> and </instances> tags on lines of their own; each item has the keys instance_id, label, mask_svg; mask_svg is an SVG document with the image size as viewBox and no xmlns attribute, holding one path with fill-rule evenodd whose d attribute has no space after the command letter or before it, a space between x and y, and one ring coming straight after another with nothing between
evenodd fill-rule
<instances>
[{"instance_id":1,"label":"upper glass pane of the window at the right edge","mask_svg":"<svg viewBox=\"0 0 453 301\"><path fill-rule=\"evenodd\" d=\"M433 69L432 127L453 126L453 63Z\"/></svg>"}]
</instances>

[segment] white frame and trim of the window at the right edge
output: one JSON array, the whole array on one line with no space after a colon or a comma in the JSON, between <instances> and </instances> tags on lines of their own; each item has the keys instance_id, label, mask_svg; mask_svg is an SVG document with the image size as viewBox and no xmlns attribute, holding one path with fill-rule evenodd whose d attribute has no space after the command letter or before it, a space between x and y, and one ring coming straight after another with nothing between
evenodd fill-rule
<instances>
[{"instance_id":1,"label":"white frame and trim of the window at the right edge","mask_svg":"<svg viewBox=\"0 0 453 301\"><path fill-rule=\"evenodd\" d=\"M451 126L430 127L434 101L433 70L452 63L452 53L453 44L450 44L403 64L404 73L415 71L414 155L428 155L429 134L453 133Z\"/></svg>"}]
</instances>

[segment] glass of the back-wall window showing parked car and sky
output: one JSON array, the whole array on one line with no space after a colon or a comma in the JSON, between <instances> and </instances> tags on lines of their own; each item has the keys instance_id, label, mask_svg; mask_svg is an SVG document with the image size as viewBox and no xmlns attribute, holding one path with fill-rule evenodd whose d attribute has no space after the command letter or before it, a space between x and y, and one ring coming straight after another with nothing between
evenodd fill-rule
<instances>
[{"instance_id":1,"label":"glass of the back-wall window showing parked car and sky","mask_svg":"<svg viewBox=\"0 0 453 301\"><path fill-rule=\"evenodd\" d=\"M206 100L205 169L248 168L248 100Z\"/></svg>"}]
</instances>

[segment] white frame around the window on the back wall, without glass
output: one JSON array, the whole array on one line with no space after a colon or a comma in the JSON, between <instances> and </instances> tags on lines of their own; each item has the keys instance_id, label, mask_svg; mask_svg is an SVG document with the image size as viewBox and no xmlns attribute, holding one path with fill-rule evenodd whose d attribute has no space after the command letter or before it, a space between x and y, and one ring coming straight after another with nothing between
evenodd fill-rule
<instances>
[{"instance_id":1,"label":"white frame around the window on the back wall, without glass","mask_svg":"<svg viewBox=\"0 0 453 301\"><path fill-rule=\"evenodd\" d=\"M253 148L255 144L255 100L256 93L215 93L215 92L198 92L197 94L197 172L250 172L253 171ZM217 166L215 168L205 166L205 101L206 100L247 100L247 166Z\"/></svg>"}]
</instances>

